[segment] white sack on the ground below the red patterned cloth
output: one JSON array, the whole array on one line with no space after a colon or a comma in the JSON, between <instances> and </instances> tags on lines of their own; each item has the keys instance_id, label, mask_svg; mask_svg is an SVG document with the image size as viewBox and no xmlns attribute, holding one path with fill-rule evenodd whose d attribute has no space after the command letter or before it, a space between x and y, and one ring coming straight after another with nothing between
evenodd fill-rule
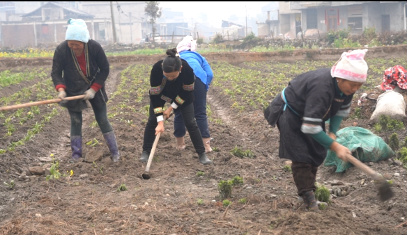
<instances>
[{"instance_id":1,"label":"white sack on the ground below the red patterned cloth","mask_svg":"<svg viewBox=\"0 0 407 235\"><path fill-rule=\"evenodd\" d=\"M381 115L387 115L396 120L403 120L406 117L406 102L404 102L403 95L392 90L379 95L370 121L378 122Z\"/></svg>"}]
</instances>

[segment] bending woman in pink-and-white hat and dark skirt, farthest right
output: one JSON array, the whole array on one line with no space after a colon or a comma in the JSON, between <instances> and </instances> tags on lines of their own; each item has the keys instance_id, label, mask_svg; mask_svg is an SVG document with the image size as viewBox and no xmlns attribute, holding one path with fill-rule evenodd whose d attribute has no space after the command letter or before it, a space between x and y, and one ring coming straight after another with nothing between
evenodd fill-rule
<instances>
[{"instance_id":1,"label":"bending woman in pink-and-white hat and dark skirt, farthest right","mask_svg":"<svg viewBox=\"0 0 407 235\"><path fill-rule=\"evenodd\" d=\"M353 95L367 78L367 50L344 52L331 69L300 74L289 82L264 111L266 120L280 132L279 157L292 161L298 195L305 207L318 211L315 179L318 166L334 151L346 161L351 151L335 142L341 120L351 111ZM330 120L329 133L325 121Z\"/></svg>"}]
</instances>

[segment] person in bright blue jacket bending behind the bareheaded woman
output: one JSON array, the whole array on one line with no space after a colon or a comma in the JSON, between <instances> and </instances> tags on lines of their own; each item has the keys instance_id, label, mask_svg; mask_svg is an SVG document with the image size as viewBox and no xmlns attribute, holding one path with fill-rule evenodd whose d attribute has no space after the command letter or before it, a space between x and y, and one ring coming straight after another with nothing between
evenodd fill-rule
<instances>
[{"instance_id":1,"label":"person in bright blue jacket bending behind the bareheaded woman","mask_svg":"<svg viewBox=\"0 0 407 235\"><path fill-rule=\"evenodd\" d=\"M203 145L205 146L205 152L211 152L210 147L210 133L208 128L208 117L206 115L206 93L209 90L210 82L213 79L213 72L210 69L210 65L206 59L196 52L197 40L194 40L192 36L186 36L176 47L178 54L183 60L192 67L195 74L194 83L194 111L195 119L201 131ZM185 124L183 122L183 116L180 111L174 112L174 136L176 137L177 149L185 149Z\"/></svg>"}]
</instances>

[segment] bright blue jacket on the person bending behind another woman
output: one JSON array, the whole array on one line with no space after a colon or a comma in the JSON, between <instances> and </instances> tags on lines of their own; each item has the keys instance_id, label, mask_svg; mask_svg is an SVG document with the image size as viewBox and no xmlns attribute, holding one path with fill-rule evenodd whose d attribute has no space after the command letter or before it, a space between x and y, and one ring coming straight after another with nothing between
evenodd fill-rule
<instances>
[{"instance_id":1,"label":"bright blue jacket on the person bending behind another woman","mask_svg":"<svg viewBox=\"0 0 407 235\"><path fill-rule=\"evenodd\" d=\"M182 51L180 57L187 61L194 70L195 76L201 79L206 84L206 90L209 90L210 82L213 79L213 72L205 57L194 51Z\"/></svg>"}]
</instances>

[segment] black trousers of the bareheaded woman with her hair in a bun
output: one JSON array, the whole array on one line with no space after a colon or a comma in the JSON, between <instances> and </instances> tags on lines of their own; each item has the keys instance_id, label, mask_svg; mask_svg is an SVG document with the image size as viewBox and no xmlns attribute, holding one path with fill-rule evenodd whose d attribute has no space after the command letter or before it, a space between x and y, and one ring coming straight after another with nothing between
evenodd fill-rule
<instances>
[{"instance_id":1,"label":"black trousers of the bareheaded woman with her hair in a bun","mask_svg":"<svg viewBox=\"0 0 407 235\"><path fill-rule=\"evenodd\" d=\"M203 141L201 137L201 131L197 125L194 114L194 103L187 104L186 106L178 107L181 109L181 115L183 116L185 127L187 127L188 133L192 140L192 145L195 147L197 154L202 154L205 152L205 147L203 147ZM150 116L148 117L148 122L146 129L144 129L144 139L143 139L143 151L151 152L153 143L155 140L155 127L157 127L157 117L155 117L153 104L150 102Z\"/></svg>"}]
</instances>

